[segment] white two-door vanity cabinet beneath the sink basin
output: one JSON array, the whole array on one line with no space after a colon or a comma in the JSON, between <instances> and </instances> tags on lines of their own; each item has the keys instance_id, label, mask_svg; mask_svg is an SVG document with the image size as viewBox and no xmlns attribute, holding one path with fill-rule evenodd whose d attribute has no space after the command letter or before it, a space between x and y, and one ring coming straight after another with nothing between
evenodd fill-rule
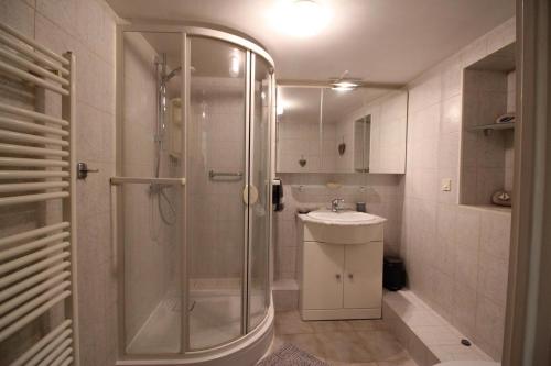
<instances>
[{"instance_id":1,"label":"white two-door vanity cabinet beneath the sink basin","mask_svg":"<svg viewBox=\"0 0 551 366\"><path fill-rule=\"evenodd\" d=\"M380 318L382 222L358 226L302 222L302 319Z\"/></svg>"}]
</instances>

